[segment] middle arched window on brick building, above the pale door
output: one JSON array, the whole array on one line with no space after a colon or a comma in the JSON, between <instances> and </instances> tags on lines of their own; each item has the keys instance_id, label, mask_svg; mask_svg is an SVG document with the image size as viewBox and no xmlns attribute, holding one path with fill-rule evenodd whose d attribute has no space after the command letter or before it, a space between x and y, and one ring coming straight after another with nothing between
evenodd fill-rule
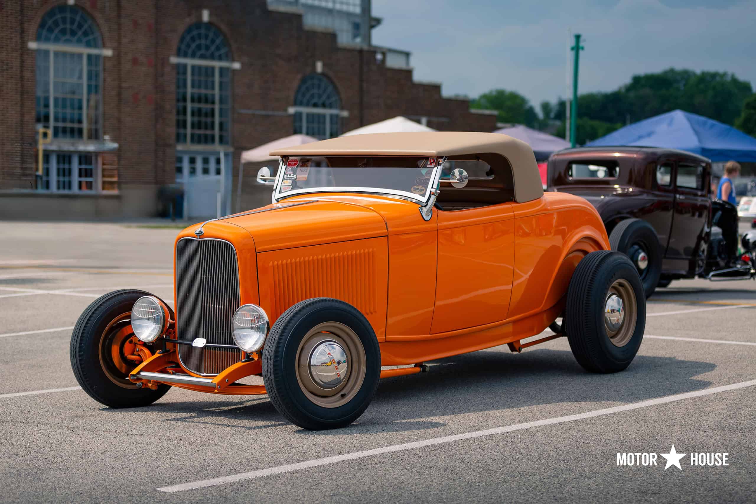
<instances>
[{"instance_id":1,"label":"middle arched window on brick building, above the pale door","mask_svg":"<svg viewBox=\"0 0 756 504\"><path fill-rule=\"evenodd\" d=\"M178 41L176 143L231 142L231 51L209 23L194 23Z\"/></svg>"}]
</instances>

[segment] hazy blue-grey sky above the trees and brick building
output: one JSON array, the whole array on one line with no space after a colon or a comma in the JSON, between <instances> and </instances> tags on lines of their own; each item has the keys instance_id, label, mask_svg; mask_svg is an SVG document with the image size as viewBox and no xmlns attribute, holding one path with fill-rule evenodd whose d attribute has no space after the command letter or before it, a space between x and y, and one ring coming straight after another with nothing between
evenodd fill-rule
<instances>
[{"instance_id":1,"label":"hazy blue-grey sky above the trees and brick building","mask_svg":"<svg viewBox=\"0 0 756 504\"><path fill-rule=\"evenodd\" d=\"M584 37L581 92L670 66L756 86L756 0L373 0L373 15L373 44L411 51L414 79L445 95L565 96L569 29Z\"/></svg>"}]
</instances>

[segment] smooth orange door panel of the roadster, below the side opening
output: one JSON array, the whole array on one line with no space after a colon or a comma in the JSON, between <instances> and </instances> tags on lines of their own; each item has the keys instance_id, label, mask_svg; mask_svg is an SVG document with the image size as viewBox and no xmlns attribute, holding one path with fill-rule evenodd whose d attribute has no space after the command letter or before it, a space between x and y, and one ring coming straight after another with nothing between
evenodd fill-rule
<instances>
[{"instance_id":1,"label":"smooth orange door panel of the roadster, below the side opening","mask_svg":"<svg viewBox=\"0 0 756 504\"><path fill-rule=\"evenodd\" d=\"M432 334L507 318L514 245L510 203L438 211Z\"/></svg>"}]
</instances>

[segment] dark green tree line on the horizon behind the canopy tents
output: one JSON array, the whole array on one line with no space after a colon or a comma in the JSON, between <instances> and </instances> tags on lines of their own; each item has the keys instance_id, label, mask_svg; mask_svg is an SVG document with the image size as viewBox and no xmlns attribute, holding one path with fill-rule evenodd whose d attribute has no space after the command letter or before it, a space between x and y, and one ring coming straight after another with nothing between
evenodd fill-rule
<instances>
[{"instance_id":1,"label":"dark green tree line on the horizon behind the canopy tents","mask_svg":"<svg viewBox=\"0 0 756 504\"><path fill-rule=\"evenodd\" d=\"M516 91L494 89L470 102L472 108L497 110L500 122L550 129L564 137L564 99L543 101L540 115ZM681 109L733 125L748 135L756 135L756 94L751 83L727 72L695 72L670 68L659 73L633 76L615 91L584 93L578 96L577 143L608 135L624 125L658 114Z\"/></svg>"}]
</instances>

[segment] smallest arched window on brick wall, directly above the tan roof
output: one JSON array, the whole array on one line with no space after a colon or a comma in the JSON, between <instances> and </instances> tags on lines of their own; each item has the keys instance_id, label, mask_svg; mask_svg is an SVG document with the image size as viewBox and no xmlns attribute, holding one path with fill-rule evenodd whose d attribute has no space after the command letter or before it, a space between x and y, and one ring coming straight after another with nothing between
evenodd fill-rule
<instances>
[{"instance_id":1,"label":"smallest arched window on brick wall, directly above the tan roof","mask_svg":"<svg viewBox=\"0 0 756 504\"><path fill-rule=\"evenodd\" d=\"M338 137L341 98L325 76L311 73L302 78L294 95L294 133L315 138Z\"/></svg>"}]
</instances>

